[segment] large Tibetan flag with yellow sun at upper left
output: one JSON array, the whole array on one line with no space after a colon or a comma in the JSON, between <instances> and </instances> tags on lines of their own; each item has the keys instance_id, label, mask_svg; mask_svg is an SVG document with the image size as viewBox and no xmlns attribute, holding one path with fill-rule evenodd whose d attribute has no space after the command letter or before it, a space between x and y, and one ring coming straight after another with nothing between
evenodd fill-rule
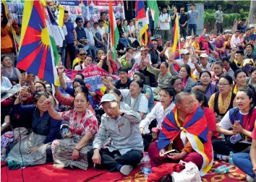
<instances>
[{"instance_id":1,"label":"large Tibetan flag with yellow sun at upper left","mask_svg":"<svg viewBox=\"0 0 256 182\"><path fill-rule=\"evenodd\" d=\"M59 55L46 12L40 1L25 1L17 68L56 84Z\"/></svg>"}]
</instances>

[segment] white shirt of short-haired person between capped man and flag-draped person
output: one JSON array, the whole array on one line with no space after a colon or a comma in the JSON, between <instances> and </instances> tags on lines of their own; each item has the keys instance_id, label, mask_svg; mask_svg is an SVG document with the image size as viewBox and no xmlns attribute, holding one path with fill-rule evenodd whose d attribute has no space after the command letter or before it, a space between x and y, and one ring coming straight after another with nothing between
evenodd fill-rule
<instances>
[{"instance_id":1,"label":"white shirt of short-haired person between capped man and flag-draped person","mask_svg":"<svg viewBox=\"0 0 256 182\"><path fill-rule=\"evenodd\" d=\"M145 134L150 133L148 126L150 125L151 121L156 119L156 121L158 122L158 129L162 129L161 125L164 116L170 113L174 106L175 104L171 103L171 105L169 105L168 108L166 108L166 110L163 110L163 105L160 102L156 103L154 108L151 110L150 113L148 113L146 118L140 121L140 128L143 128L145 130Z\"/></svg>"}]
</instances>

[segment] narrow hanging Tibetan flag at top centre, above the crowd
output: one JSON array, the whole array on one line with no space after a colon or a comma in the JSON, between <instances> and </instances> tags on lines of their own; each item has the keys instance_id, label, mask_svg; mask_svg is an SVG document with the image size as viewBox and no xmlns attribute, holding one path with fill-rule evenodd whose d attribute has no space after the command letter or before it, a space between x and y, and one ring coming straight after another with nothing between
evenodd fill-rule
<instances>
[{"instance_id":1,"label":"narrow hanging Tibetan flag at top centre, above the crowd","mask_svg":"<svg viewBox=\"0 0 256 182\"><path fill-rule=\"evenodd\" d=\"M138 30L140 31L139 35L139 42L140 46L142 46L142 36L145 35L145 45L148 44L148 22L147 22L147 17L146 17L146 12L145 12L145 4L143 0L137 0L135 3L135 20L138 25Z\"/></svg>"}]
</instances>

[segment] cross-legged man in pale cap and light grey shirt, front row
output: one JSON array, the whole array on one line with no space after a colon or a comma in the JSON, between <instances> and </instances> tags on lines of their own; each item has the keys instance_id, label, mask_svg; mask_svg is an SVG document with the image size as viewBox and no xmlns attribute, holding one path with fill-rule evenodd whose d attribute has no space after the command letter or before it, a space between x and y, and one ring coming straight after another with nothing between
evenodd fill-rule
<instances>
[{"instance_id":1,"label":"cross-legged man in pale cap and light grey shirt, front row","mask_svg":"<svg viewBox=\"0 0 256 182\"><path fill-rule=\"evenodd\" d=\"M89 162L95 168L120 171L129 175L143 157L143 140L140 134L140 115L128 105L119 106L116 96L106 94L101 98L104 114L101 125L89 152ZM111 139L109 146L103 147L106 139Z\"/></svg>"}]
</instances>

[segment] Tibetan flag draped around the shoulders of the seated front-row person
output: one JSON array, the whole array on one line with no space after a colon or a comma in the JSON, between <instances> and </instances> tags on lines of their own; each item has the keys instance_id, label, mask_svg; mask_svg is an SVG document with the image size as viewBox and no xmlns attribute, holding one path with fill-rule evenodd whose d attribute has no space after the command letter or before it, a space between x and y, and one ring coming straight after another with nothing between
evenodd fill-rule
<instances>
[{"instance_id":1,"label":"Tibetan flag draped around the shoulders of the seated front-row person","mask_svg":"<svg viewBox=\"0 0 256 182\"><path fill-rule=\"evenodd\" d=\"M184 146L188 140L195 152L202 156L200 175L208 173L213 165L213 147L205 113L200 107L195 105L193 112L187 116L182 126L178 121L176 107L163 118L162 131L157 142L158 149L167 147L176 137L182 139Z\"/></svg>"}]
</instances>

